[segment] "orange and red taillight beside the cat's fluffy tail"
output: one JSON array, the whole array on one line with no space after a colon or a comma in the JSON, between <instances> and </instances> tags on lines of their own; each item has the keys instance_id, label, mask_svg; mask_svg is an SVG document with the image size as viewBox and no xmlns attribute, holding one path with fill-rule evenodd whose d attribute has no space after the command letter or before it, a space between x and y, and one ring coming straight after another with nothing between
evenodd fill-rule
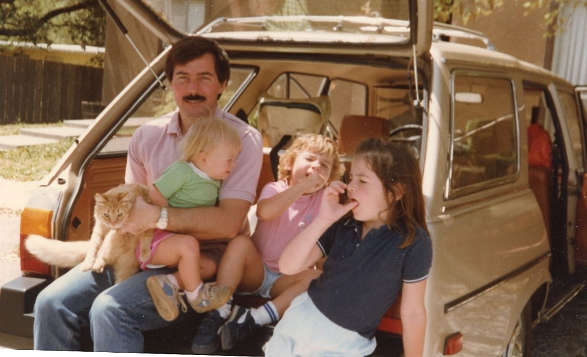
<instances>
[{"instance_id":1,"label":"orange and red taillight beside the cat's fluffy tail","mask_svg":"<svg viewBox=\"0 0 587 357\"><path fill-rule=\"evenodd\" d=\"M21 271L51 275L51 266L37 260L25 248L25 239L29 234L51 237L53 211L25 207L21 214Z\"/></svg>"}]
</instances>

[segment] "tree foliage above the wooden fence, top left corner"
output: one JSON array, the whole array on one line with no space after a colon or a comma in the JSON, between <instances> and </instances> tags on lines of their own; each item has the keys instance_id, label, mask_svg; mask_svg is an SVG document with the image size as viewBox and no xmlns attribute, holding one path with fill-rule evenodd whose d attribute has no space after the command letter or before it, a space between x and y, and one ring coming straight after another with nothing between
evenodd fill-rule
<instances>
[{"instance_id":1,"label":"tree foliage above the wooden fence, top left corner","mask_svg":"<svg viewBox=\"0 0 587 357\"><path fill-rule=\"evenodd\" d=\"M0 0L0 39L104 46L106 15L96 0Z\"/></svg>"}]
</instances>

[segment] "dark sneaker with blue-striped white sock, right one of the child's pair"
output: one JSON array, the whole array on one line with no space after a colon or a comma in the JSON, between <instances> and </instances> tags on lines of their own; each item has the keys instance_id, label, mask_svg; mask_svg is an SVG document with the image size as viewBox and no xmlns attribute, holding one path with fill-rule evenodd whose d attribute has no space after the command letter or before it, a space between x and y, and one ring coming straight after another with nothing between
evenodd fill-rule
<instances>
[{"instance_id":1,"label":"dark sneaker with blue-striped white sock, right one of the child's pair","mask_svg":"<svg viewBox=\"0 0 587 357\"><path fill-rule=\"evenodd\" d=\"M226 324L222 325L220 331L222 349L231 349L235 345L244 342L245 339L260 328L261 325L257 325L251 315L251 309L235 305L230 318L228 318Z\"/></svg>"}]
</instances>

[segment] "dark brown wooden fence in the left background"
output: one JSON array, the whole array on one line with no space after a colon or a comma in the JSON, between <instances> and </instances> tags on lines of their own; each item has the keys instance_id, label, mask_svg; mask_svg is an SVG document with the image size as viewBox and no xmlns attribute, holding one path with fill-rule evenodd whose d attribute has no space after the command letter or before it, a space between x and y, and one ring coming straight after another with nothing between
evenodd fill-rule
<instances>
[{"instance_id":1,"label":"dark brown wooden fence in the left background","mask_svg":"<svg viewBox=\"0 0 587 357\"><path fill-rule=\"evenodd\" d=\"M99 102L103 70L0 56L0 124L83 119L82 101Z\"/></svg>"}]
</instances>

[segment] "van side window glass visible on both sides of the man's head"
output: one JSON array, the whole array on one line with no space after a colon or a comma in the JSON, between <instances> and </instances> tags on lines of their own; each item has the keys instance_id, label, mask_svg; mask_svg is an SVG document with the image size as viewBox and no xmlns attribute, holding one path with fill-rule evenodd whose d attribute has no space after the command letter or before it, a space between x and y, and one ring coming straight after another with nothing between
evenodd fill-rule
<instances>
[{"instance_id":1,"label":"van side window glass visible on both sides of the man's head","mask_svg":"<svg viewBox=\"0 0 587 357\"><path fill-rule=\"evenodd\" d=\"M218 100L219 107L223 108L230 102L239 88L251 79L253 71L252 68L231 68L230 80ZM102 148L100 154L126 153L129 149L130 138L139 126L176 110L177 105L168 80L164 80L163 84L167 89L157 87Z\"/></svg>"}]
</instances>

